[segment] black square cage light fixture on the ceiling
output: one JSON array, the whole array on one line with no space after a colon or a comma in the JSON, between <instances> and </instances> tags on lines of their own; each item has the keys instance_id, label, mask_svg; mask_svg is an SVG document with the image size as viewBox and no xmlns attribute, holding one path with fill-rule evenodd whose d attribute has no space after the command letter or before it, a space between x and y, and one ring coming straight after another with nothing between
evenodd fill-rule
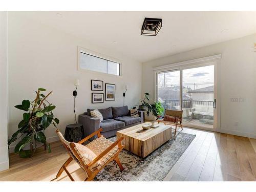
<instances>
[{"instance_id":1,"label":"black square cage light fixture on the ceiling","mask_svg":"<svg viewBox=\"0 0 256 192\"><path fill-rule=\"evenodd\" d=\"M162 27L161 18L145 18L142 28L141 35L156 36Z\"/></svg>"}]
</instances>

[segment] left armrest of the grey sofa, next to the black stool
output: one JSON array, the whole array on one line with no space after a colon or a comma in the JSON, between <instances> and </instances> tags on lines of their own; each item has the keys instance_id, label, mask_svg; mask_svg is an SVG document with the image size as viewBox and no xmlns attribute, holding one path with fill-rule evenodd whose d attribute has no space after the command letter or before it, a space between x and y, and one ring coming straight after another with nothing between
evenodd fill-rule
<instances>
[{"instance_id":1,"label":"left armrest of the grey sofa, next to the black stool","mask_svg":"<svg viewBox=\"0 0 256 192\"><path fill-rule=\"evenodd\" d=\"M89 115L79 115L78 122L83 125L84 137L92 134L100 128L100 120Z\"/></svg>"}]
</instances>

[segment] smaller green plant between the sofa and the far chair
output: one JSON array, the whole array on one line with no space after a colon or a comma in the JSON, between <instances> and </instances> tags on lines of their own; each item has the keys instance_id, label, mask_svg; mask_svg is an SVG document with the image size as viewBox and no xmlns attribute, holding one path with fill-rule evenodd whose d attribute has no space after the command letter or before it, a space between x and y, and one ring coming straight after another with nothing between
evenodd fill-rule
<instances>
[{"instance_id":1,"label":"smaller green plant between the sofa and the far chair","mask_svg":"<svg viewBox=\"0 0 256 192\"><path fill-rule=\"evenodd\" d=\"M148 96L150 95L149 93L144 93L144 99L141 100L141 106L143 109L146 110L146 114L147 116L150 115L150 113L152 112L152 114L157 118L159 115L163 114L164 112L164 108L162 107L161 102L156 102L154 101L153 104L150 104L147 101L150 100L150 98L148 98Z\"/></svg>"}]
</instances>

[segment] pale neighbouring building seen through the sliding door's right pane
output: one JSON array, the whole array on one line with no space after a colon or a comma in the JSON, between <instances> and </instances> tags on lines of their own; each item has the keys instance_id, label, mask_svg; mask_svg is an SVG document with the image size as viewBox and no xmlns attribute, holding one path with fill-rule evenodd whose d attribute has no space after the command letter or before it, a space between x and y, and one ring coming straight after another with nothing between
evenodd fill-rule
<instances>
[{"instance_id":1,"label":"pale neighbouring building seen through the sliding door's right pane","mask_svg":"<svg viewBox=\"0 0 256 192\"><path fill-rule=\"evenodd\" d=\"M191 95L192 100L199 100L199 101L214 100L214 86L209 86L206 88L188 91L187 93Z\"/></svg>"}]
</instances>

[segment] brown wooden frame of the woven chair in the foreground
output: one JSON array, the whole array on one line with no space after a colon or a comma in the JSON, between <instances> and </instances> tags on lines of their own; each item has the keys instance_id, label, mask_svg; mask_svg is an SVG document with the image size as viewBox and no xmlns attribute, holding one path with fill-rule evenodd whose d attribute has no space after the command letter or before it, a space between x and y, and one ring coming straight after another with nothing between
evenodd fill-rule
<instances>
[{"instance_id":1,"label":"brown wooden frame of the woven chair in the foreground","mask_svg":"<svg viewBox=\"0 0 256 192\"><path fill-rule=\"evenodd\" d=\"M56 133L59 130L56 130ZM90 138L92 138L93 136L97 135L98 138L101 137L100 132L102 131L102 128L100 128L98 131L92 133L91 135L87 136L86 138L82 139L81 141L79 141L79 144L82 144L84 142L86 142L87 140L89 140ZM119 166L120 170L123 171L123 166L119 160L119 153L123 150L124 145L121 144L121 141L123 140L123 137L119 138L117 141L115 141L112 145L110 145L108 148L106 148L106 150L104 150L101 154L99 154L95 159L93 159L90 163L85 164L82 159L79 157L79 155L77 154L76 150L75 150L75 144L74 143L70 143L70 147L67 146L65 143L63 143L63 145L65 146L66 150L69 152L70 157L68 158L68 160L60 167L56 177L53 179L57 179L59 178L59 176L62 174L63 171L65 171L67 173L67 175L69 176L69 178L71 179L71 181L75 181L74 178L71 176L71 174L69 173L67 166L74 160L73 157L71 156L71 154L74 155L74 157L80 162L80 166L84 169L84 171L87 173L87 178L84 179L84 181L92 181L93 178L100 172L100 170L102 170L107 164L109 164L109 162L111 161L115 161L117 163L117 165ZM96 168L95 170L92 170L91 168L93 167L93 165L98 162L103 156L105 156L106 154L108 154L115 146L118 146L118 151L117 153L111 158L109 159L104 165L102 165L99 169ZM71 152L71 150L72 152ZM52 181L53 181L52 180Z\"/></svg>"}]
</instances>

